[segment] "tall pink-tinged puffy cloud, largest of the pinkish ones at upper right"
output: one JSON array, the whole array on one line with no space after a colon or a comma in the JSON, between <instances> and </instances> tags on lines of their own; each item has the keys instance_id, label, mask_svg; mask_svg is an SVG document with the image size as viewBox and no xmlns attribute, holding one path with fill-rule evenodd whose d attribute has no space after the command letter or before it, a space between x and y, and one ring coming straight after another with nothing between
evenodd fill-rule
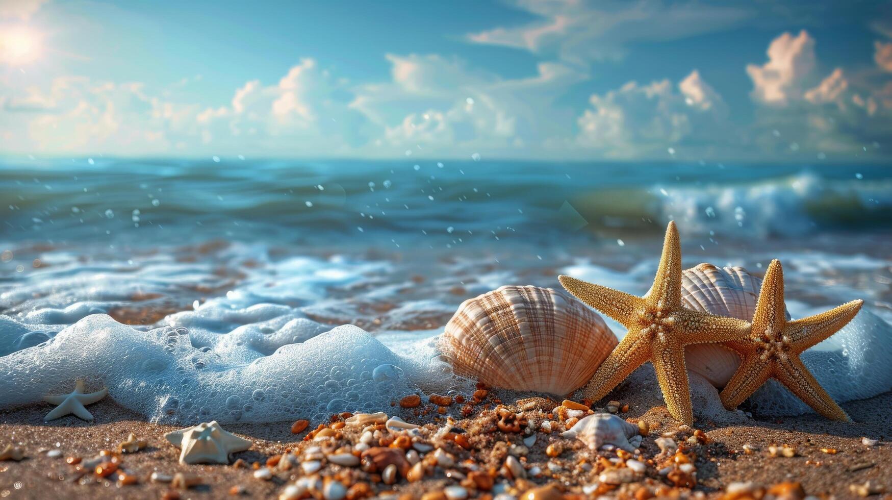
<instances>
[{"instance_id":1,"label":"tall pink-tinged puffy cloud, largest of the pinkish ones at upper right","mask_svg":"<svg viewBox=\"0 0 892 500\"><path fill-rule=\"evenodd\" d=\"M768 62L747 65L757 102L783 106L797 100L814 83L814 38L805 29L796 37L784 33L768 46Z\"/></svg>"}]
</instances>

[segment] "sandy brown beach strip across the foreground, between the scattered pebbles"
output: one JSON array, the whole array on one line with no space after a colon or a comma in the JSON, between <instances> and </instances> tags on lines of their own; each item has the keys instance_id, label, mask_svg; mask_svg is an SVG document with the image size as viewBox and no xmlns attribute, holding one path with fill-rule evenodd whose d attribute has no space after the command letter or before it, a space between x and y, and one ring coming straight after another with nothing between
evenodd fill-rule
<instances>
[{"instance_id":1,"label":"sandy brown beach strip across the foreground, between the scattered pebbles","mask_svg":"<svg viewBox=\"0 0 892 500\"><path fill-rule=\"evenodd\" d=\"M464 488L467 496L492 496L495 492L492 487L467 486L465 478L470 471L483 471L491 476L491 481L487 482L497 485L496 490L501 489L515 496L544 485L560 485L566 498L598 495L621 498L648 495L758 498L760 492L772 487L775 489L771 491L777 495L766 497L802 497L797 496L797 487L783 483L797 483L806 495L818 498L851 498L859 496L859 492L873 495L892 491L892 475L888 473L892 470L892 446L889 446L889 439L892 438L892 412L889 411L892 408L892 394L842 404L853 422L826 421L809 414L735 424L697 421L693 428L686 428L669 417L665 406L659 404L658 392L647 389L646 383L652 376L648 370L648 366L642 367L629 382L609 396L621 404L619 415L626 421L648 422L649 431L643 438L640 452L633 455L624 454L621 450L595 453L578 439L560 437L559 430L567 422L561 421L560 416L551 410L560 404L558 401L490 390L478 404L473 404L473 395L464 395L467 406L450 404L443 415L437 412L437 405L426 401L417 408L404 409L394 400L390 414L423 425L425 441L442 447L454 457L455 464L442 467L434 461L434 466L428 468L423 479L409 482L400 478L393 485L384 484L380 471L367 473L359 467L342 467L330 462L314 474L304 474L298 469L297 463L301 461L299 455L310 446L321 444L326 449L334 449L358 442L364 426L344 425L340 423L343 419L336 415L335 421L327 422L328 426L337 429L334 438L305 439L308 432L317 429L317 422L297 435L292 434L293 422L290 421L260 425L230 424L225 426L227 430L253 442L249 451L236 453L232 457L232 462L239 462L241 467L181 465L177 462L178 449L163 437L165 432L177 429L176 426L147 423L140 415L128 412L108 399L89 406L95 415L94 423L80 421L73 416L45 423L43 416L48 405L37 404L0 415L0 437L3 437L0 445L12 443L19 446L27 457L21 462L0 463L0 495L10 498L214 498L231 494L269 497L283 494L285 485L293 484L295 479L311 476L340 479L347 488L348 498L435 498L448 486ZM499 404L504 406L500 407ZM601 404L608 403L604 401ZM622 412L626 404L628 408ZM514 453L515 447L512 446L524 446L523 439L529 435L524 432L525 429L521 432L503 432L494 426L500 408L501 411L508 409L516 412L522 421L531 422L531 427L539 426L529 433L536 437L535 443L528 446L528 451L521 452L526 479L514 478L503 467L503 462L508 454ZM592 408L604 411L598 404ZM467 416L462 415L463 410ZM541 421L549 420L549 414L556 426L551 432L545 432ZM447 424L446 419L450 416L454 421L450 418ZM456 446L458 441L455 436L458 434L453 435L450 443L441 443L430 437L444 425L464 429L466 432L462 435L467 436L468 449ZM120 470L133 476L136 484L120 485L114 475L102 478L94 471L77 471L75 465L66 463L67 457L86 460L101 450L115 450L130 433L145 439L148 444L136 453L120 455ZM393 436L386 437L388 435L398 437L401 433L387 432L385 429L385 440L392 441ZM661 437L670 437L692 458L696 473L690 477L695 484L676 486L670 478L677 480L677 477L667 477L665 471L660 473L666 462L679 460L675 458L677 453L661 452L661 446L657 444L657 439ZM879 443L867 446L863 437L877 439ZM547 454L549 445L558 446L561 453L550 457ZM773 446L780 450L774 452L776 456L772 455ZM785 448L792 452L785 452ZM61 454L48 454L51 450L58 450ZM56 456L51 456L54 454ZM294 456L293 468L283 471L271 466L269 479L255 477L259 467L266 468L268 463L284 460L283 454ZM619 484L609 484L613 479L606 478L603 471L624 469L624 460L618 460L618 457L633 457L632 460L646 464L646 471L635 476L622 476ZM613 463L609 462L611 459ZM585 463L589 466L582 466ZM535 473L537 468L538 474ZM153 472L161 474L162 478L181 472L197 478L197 484L188 488L171 487L168 482L150 479ZM865 483L870 490L857 489ZM366 486L356 487L357 484ZM726 493L729 487L731 491L748 491L751 496L732 496ZM764 489L760 490L760 487ZM544 496L542 490L538 491L540 496L533 498L557 497ZM787 491L788 496L780 496L780 491Z\"/></svg>"}]
</instances>

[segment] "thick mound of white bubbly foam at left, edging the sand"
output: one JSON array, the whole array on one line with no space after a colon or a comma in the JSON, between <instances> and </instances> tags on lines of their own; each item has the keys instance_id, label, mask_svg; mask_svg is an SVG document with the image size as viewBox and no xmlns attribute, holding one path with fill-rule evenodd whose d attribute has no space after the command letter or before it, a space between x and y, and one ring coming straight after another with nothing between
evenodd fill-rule
<instances>
[{"instance_id":1,"label":"thick mound of white bubbly foam at left, edging the sand","mask_svg":"<svg viewBox=\"0 0 892 500\"><path fill-rule=\"evenodd\" d=\"M116 403L151 421L288 421L335 411L389 411L395 394L417 390L417 367L352 325L269 355L255 353L249 363L226 349L202 351L185 329L139 331L95 314L42 346L0 358L0 402L4 408L37 403L73 379L87 379L103 383ZM206 363L203 369L195 357ZM387 387L360 383L371 363L387 366Z\"/></svg>"}]
</instances>

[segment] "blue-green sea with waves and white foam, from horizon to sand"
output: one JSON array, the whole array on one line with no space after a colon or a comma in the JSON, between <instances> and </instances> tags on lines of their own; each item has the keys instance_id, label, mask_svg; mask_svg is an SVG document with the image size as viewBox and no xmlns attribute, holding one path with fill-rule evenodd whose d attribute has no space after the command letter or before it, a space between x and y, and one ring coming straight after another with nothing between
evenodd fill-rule
<instances>
[{"instance_id":1,"label":"blue-green sea with waves and white foam, from horizon to sand","mask_svg":"<svg viewBox=\"0 0 892 500\"><path fill-rule=\"evenodd\" d=\"M863 298L813 368L839 398L892 388L881 165L26 159L0 202L3 408L78 377L153 421L457 390L434 341L463 300L559 273L643 293L670 220L686 265L780 258L793 317Z\"/></svg>"}]
</instances>

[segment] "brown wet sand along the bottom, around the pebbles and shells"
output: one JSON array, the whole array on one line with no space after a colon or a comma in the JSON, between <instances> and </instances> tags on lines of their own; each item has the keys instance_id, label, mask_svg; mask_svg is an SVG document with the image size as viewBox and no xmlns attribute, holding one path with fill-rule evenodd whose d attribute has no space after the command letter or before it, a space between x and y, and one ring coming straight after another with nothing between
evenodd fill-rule
<instances>
[{"instance_id":1,"label":"brown wet sand along the bottom, around the pebbles and shells","mask_svg":"<svg viewBox=\"0 0 892 500\"><path fill-rule=\"evenodd\" d=\"M854 420L853 422L827 421L820 416L810 414L799 417L777 420L747 420L742 423L718 423L698 419L693 426L705 432L705 443L701 442L689 449L696 454L694 466L697 471L697 485L693 489L673 487L672 482L659 475L661 460L660 447L655 439L661 436L673 436L683 443L691 436L693 429L680 429L659 404L659 395L655 390L641 387L640 383L648 379L648 367L641 373L632 375L632 380L618 388L607 399L615 399L621 404L628 404L622 416L627 421L647 421L650 431L640 446L640 458L648 464L647 477L637 483L609 488L608 496L623 496L635 488L646 487L650 490L663 487L663 493L672 496L707 496L722 497L726 488L735 482L752 481L756 486L770 487L782 482L800 483L807 495L818 497L850 498L855 493L850 485L862 485L871 480L879 488L892 492L892 393L886 393L868 400L842 404L843 408ZM473 446L464 451L453 447L452 452L458 459L470 459L479 463L484 470L492 471L496 482L506 480L504 472L497 472L499 459L498 442L520 444L522 435L517 433L483 432L481 429L491 428L493 408L499 404L507 405L516 412L521 412L524 405L522 396L504 391L490 391L490 396L480 404L472 407L472 412L462 418L463 404L451 404L447 413L455 418L453 427L467 429L467 436ZM466 395L468 401L471 395ZM518 398L519 402L518 402ZM541 408L558 405L559 401L535 400ZM395 403L395 401L394 401ZM600 402L607 404L607 400ZM595 404L595 409L599 404ZM230 488L239 487L241 495L255 497L277 496L285 484L293 483L293 479L301 476L299 469L279 473L271 480L253 477L253 462L266 463L267 459L291 450L305 449L312 446L313 441L301 441L307 432L316 429L320 422L311 425L298 435L291 433L291 421L269 424L229 424L224 428L236 434L252 439L254 446L249 451L236 453L232 461L242 459L247 462L245 468L231 465L180 465L178 448L171 446L163 434L178 426L147 423L140 415L129 412L114 404L111 399L92 404L89 411L95 416L95 422L80 421L73 416L63 417L57 421L45 423L43 417L51 409L49 404L37 404L11 412L0 413L0 447L6 444L20 446L27 456L21 462L0 462L0 496L10 498L50 498L50 497L127 497L127 498L160 498L167 495L184 498L214 498L228 496ZM438 414L434 404L425 401L413 410L401 409L394 405L390 414L399 414L407 421L419 424L439 421L439 427L445 418ZM529 415L533 415L528 412ZM536 410L538 412L538 410ZM549 412L549 410L544 410ZM520 413L518 413L520 414ZM539 413L542 414L542 413ZM295 420L301 415L295 415ZM535 417L531 417L534 419ZM556 417L557 418L557 417ZM489 422L489 423L487 423ZM326 422L327 423L327 422ZM436 427L428 426L430 429ZM349 432L348 432L349 431ZM78 473L75 467L65 462L68 456L93 457L103 449L116 449L128 434L148 441L145 450L135 454L124 454L121 467L138 479L136 485L118 486L113 479L101 479L93 473ZM356 437L359 430L352 431L350 426L343 429L346 442ZM532 483L518 480L516 485L521 489L533 484L565 483L566 494L581 494L581 487L598 479L596 472L580 472L578 465L583 462L597 463L599 456L615 457L615 452L589 451L580 441L560 437L558 432L550 434L541 430L536 433L537 442L530 447L525 456L528 469L541 467L545 473L538 478L530 478ZM865 446L862 437L879 439L877 446ZM545 454L547 444L559 442L564 448L557 459L549 459ZM58 443L58 446L57 446ZM772 456L770 446L789 446L795 449L795 455ZM501 445L504 446L504 445ZM681 444L682 448L685 445ZM745 450L749 449L749 453ZM47 455L48 450L58 449L59 457ZM822 449L835 450L835 454ZM458 450L458 451L456 451ZM665 455L665 454L664 454ZM547 467L549 460L565 464L562 472L552 476ZM457 460L458 462L458 460ZM472 463L468 462L468 463ZM462 462L465 463L465 462ZM464 466L464 465L463 465ZM202 486L189 489L172 490L167 483L153 483L149 480L153 472L173 475L177 472L194 474L202 479ZM328 474L326 469L320 471ZM359 473L359 471L356 471ZM345 477L343 472L339 477ZM356 479L357 475L351 476ZM374 478L374 476L369 476ZM378 477L380 478L380 476ZM357 479L359 480L359 479ZM380 479L378 479L380 480ZM418 498L425 491L440 491L442 487L457 485L456 479L448 479L439 469L433 476L409 483L401 479L397 484L386 486L371 481L372 491L377 495L395 492L407 498ZM349 485L348 485L349 486ZM668 489L666 489L668 488ZM474 495L472 490L471 495ZM488 495L486 492L477 492ZM571 496L572 497L572 496ZM882 497L874 496L874 497Z\"/></svg>"}]
</instances>

